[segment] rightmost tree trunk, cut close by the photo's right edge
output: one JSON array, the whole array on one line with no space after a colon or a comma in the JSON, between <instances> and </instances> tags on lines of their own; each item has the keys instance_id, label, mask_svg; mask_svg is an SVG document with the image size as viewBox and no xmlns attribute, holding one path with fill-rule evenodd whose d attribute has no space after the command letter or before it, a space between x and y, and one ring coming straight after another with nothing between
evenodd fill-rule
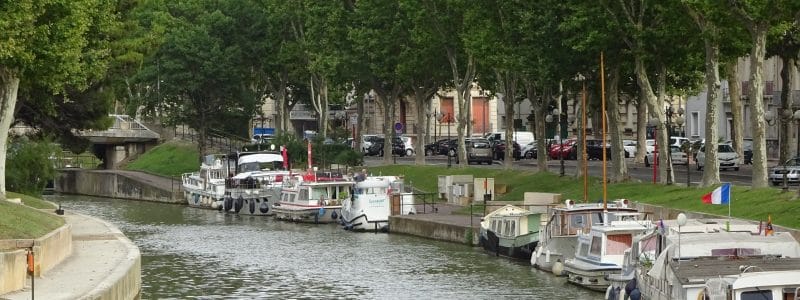
<instances>
[{"instance_id":1,"label":"rightmost tree trunk, cut close by the photo's right edge","mask_svg":"<svg viewBox=\"0 0 800 300\"><path fill-rule=\"evenodd\" d=\"M796 53L795 53L796 54ZM792 82L794 82L794 57L781 57L783 61L783 66L781 68L781 86L784 88L781 89L781 112L776 116L781 121L781 150L780 156L778 158L779 162L784 162L792 157L792 148L794 148L794 143L792 143L792 137L794 136L792 131L796 127L791 122L791 114L792 111Z\"/></svg>"}]
</instances>

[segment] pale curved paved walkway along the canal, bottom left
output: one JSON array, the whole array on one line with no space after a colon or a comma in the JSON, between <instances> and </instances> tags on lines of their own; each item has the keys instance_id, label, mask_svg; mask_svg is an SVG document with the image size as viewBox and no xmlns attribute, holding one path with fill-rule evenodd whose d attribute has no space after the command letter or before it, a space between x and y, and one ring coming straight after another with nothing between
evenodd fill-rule
<instances>
[{"instance_id":1,"label":"pale curved paved walkway along the canal, bottom left","mask_svg":"<svg viewBox=\"0 0 800 300\"><path fill-rule=\"evenodd\" d=\"M45 276L34 281L35 299L98 299L130 270L138 272L141 288L139 248L113 225L100 219L67 211L65 221L72 225L72 255ZM31 299L28 287L0 295L0 299ZM129 287L132 288L132 287Z\"/></svg>"}]
</instances>

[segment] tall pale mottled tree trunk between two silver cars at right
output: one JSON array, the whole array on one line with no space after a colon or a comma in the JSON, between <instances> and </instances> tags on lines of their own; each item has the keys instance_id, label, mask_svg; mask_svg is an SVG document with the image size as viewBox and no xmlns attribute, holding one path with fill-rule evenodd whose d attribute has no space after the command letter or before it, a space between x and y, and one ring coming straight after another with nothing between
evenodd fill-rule
<instances>
[{"instance_id":1,"label":"tall pale mottled tree trunk between two silver cars at right","mask_svg":"<svg viewBox=\"0 0 800 300\"><path fill-rule=\"evenodd\" d=\"M753 178L752 187L767 186L767 140L764 122L764 52L767 43L766 25L750 28L753 39L750 51L750 120L753 128Z\"/></svg>"}]
</instances>

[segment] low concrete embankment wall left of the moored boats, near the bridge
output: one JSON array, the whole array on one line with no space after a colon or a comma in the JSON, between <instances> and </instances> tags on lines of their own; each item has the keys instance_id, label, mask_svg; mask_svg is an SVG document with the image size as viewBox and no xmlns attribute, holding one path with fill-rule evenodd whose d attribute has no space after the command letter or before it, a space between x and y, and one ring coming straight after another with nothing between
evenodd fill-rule
<instances>
[{"instance_id":1,"label":"low concrete embankment wall left of the moored boats, near the bridge","mask_svg":"<svg viewBox=\"0 0 800 300\"><path fill-rule=\"evenodd\" d=\"M161 188L139 178L104 170L63 169L55 180L55 191L96 197L183 203L180 186Z\"/></svg>"}]
</instances>

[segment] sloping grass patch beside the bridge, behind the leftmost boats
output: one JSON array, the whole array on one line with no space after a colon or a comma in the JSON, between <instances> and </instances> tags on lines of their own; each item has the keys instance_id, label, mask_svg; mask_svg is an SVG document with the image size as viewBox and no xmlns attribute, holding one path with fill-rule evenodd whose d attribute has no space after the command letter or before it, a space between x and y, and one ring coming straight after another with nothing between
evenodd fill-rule
<instances>
[{"instance_id":1,"label":"sloping grass patch beside the bridge, behind the leftmost boats","mask_svg":"<svg viewBox=\"0 0 800 300\"><path fill-rule=\"evenodd\" d=\"M200 156L194 144L171 141L147 151L125 169L179 177L183 173L197 171L199 165Z\"/></svg>"}]
</instances>

